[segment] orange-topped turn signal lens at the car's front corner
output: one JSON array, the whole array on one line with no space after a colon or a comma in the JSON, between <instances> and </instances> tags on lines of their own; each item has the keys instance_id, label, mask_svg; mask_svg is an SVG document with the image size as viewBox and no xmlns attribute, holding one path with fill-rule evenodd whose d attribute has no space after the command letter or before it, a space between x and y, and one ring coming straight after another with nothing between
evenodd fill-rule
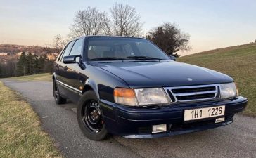
<instances>
[{"instance_id":1,"label":"orange-topped turn signal lens at the car's front corner","mask_svg":"<svg viewBox=\"0 0 256 158\"><path fill-rule=\"evenodd\" d=\"M131 88L115 88L115 103L129 106L138 106L134 90Z\"/></svg>"}]
</instances>

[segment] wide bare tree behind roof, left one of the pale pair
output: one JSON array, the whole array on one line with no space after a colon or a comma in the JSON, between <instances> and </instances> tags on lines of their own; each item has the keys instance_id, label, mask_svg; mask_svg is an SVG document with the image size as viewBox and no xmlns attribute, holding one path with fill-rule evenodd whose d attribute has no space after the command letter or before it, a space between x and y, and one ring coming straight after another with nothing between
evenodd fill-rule
<instances>
[{"instance_id":1,"label":"wide bare tree behind roof, left one of the pale pair","mask_svg":"<svg viewBox=\"0 0 256 158\"><path fill-rule=\"evenodd\" d=\"M77 12L74 23L70 26L70 37L110 34L109 22L105 12L87 6L86 9Z\"/></svg>"}]
</instances>

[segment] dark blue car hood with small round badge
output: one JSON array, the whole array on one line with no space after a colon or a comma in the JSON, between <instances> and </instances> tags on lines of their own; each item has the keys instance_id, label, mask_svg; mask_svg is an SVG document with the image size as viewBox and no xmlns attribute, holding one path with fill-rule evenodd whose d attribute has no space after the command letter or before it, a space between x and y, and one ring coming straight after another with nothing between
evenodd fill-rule
<instances>
[{"instance_id":1,"label":"dark blue car hood with small round badge","mask_svg":"<svg viewBox=\"0 0 256 158\"><path fill-rule=\"evenodd\" d=\"M94 62L92 65L120 77L132 88L220 84L233 81L226 74L182 62Z\"/></svg>"}]
</instances>

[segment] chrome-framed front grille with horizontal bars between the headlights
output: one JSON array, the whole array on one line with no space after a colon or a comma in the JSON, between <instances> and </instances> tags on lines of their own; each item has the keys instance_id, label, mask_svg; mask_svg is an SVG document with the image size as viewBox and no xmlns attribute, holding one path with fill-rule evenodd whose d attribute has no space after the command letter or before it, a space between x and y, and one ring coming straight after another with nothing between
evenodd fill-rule
<instances>
[{"instance_id":1,"label":"chrome-framed front grille with horizontal bars between the headlights","mask_svg":"<svg viewBox=\"0 0 256 158\"><path fill-rule=\"evenodd\" d=\"M172 102L213 100L218 96L218 84L201 86L165 87Z\"/></svg>"}]
</instances>

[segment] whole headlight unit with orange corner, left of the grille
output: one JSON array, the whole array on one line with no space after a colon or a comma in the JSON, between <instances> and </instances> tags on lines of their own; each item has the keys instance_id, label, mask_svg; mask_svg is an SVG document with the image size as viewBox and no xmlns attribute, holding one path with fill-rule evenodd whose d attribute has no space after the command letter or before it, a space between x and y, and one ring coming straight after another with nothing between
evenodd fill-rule
<instances>
[{"instance_id":1,"label":"whole headlight unit with orange corner, left of the grille","mask_svg":"<svg viewBox=\"0 0 256 158\"><path fill-rule=\"evenodd\" d=\"M115 103L129 106L169 104L162 88L115 88L114 98Z\"/></svg>"}]
</instances>

